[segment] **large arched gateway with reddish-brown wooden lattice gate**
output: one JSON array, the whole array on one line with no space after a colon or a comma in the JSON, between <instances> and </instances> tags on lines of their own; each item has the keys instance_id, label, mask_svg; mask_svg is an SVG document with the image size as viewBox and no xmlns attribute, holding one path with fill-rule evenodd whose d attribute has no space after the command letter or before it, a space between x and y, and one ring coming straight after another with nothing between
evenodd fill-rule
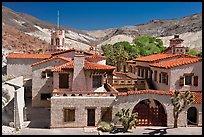
<instances>
[{"instance_id":1,"label":"large arched gateway with reddish-brown wooden lattice gate","mask_svg":"<svg viewBox=\"0 0 204 137\"><path fill-rule=\"evenodd\" d=\"M145 99L133 109L138 112L137 126L167 126L167 115L162 104L157 100Z\"/></svg>"}]
</instances>

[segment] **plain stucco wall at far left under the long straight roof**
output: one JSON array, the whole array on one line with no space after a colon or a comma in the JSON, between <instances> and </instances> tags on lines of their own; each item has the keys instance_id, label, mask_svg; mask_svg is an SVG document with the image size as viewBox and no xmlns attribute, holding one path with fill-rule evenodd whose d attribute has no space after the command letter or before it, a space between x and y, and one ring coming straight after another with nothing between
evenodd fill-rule
<instances>
[{"instance_id":1,"label":"plain stucco wall at far left under the long straight roof","mask_svg":"<svg viewBox=\"0 0 204 137\"><path fill-rule=\"evenodd\" d=\"M13 59L7 60L7 75L13 75L15 77L23 76L24 78L32 77L31 65L35 62L43 59Z\"/></svg>"}]
</instances>

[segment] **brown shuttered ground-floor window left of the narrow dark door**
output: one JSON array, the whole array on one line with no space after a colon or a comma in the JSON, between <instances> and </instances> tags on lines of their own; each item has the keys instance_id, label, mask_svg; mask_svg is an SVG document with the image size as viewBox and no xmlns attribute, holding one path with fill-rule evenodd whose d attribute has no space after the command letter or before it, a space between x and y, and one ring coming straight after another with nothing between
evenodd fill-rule
<instances>
[{"instance_id":1,"label":"brown shuttered ground-floor window left of the narrow dark door","mask_svg":"<svg viewBox=\"0 0 204 137\"><path fill-rule=\"evenodd\" d=\"M75 121L75 109L64 108L64 122Z\"/></svg>"}]
</instances>

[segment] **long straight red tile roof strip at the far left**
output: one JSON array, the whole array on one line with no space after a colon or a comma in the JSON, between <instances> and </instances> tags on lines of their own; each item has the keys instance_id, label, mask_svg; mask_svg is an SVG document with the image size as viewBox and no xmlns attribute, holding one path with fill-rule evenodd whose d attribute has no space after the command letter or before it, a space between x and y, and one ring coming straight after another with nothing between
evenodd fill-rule
<instances>
[{"instance_id":1,"label":"long straight red tile roof strip at the far left","mask_svg":"<svg viewBox=\"0 0 204 137\"><path fill-rule=\"evenodd\" d=\"M10 53L7 58L32 58L32 59L41 59L41 58L50 58L51 54L28 54L28 53Z\"/></svg>"}]
</instances>

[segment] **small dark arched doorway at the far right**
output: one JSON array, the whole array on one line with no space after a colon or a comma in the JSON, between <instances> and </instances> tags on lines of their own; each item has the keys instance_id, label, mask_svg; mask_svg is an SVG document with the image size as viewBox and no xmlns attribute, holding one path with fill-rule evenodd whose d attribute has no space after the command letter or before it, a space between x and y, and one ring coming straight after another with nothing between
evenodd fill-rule
<instances>
[{"instance_id":1,"label":"small dark arched doorway at the far right","mask_svg":"<svg viewBox=\"0 0 204 137\"><path fill-rule=\"evenodd\" d=\"M187 111L187 124L197 125L197 109L195 107L190 107Z\"/></svg>"}]
</instances>

